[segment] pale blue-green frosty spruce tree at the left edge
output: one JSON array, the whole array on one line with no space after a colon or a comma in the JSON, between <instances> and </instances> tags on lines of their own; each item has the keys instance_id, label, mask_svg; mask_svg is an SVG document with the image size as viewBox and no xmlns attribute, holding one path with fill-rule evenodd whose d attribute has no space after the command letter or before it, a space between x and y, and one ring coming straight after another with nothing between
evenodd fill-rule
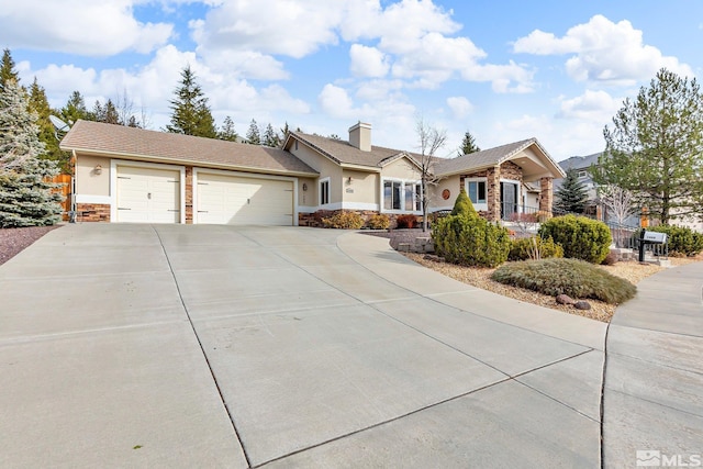
<instances>
[{"instance_id":1,"label":"pale blue-green frosty spruce tree at the left edge","mask_svg":"<svg viewBox=\"0 0 703 469\"><path fill-rule=\"evenodd\" d=\"M60 220L62 196L48 182L58 174L56 161L41 159L36 114L14 80L0 92L0 227L53 225Z\"/></svg>"}]
</instances>

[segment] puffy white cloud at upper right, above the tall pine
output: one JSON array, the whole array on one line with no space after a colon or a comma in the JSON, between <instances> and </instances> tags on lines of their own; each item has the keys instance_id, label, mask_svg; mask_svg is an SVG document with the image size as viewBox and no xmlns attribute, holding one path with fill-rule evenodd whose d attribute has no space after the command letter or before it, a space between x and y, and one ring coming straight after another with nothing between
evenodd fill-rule
<instances>
[{"instance_id":1,"label":"puffy white cloud at upper right, above the tall pine","mask_svg":"<svg viewBox=\"0 0 703 469\"><path fill-rule=\"evenodd\" d=\"M518 38L513 49L537 55L576 54L567 60L566 69L577 81L633 85L651 78L661 67L693 76L691 67L677 57L665 56L658 48L643 44L643 32L629 21L613 23L600 14L569 29L563 37L535 30Z\"/></svg>"}]
</instances>

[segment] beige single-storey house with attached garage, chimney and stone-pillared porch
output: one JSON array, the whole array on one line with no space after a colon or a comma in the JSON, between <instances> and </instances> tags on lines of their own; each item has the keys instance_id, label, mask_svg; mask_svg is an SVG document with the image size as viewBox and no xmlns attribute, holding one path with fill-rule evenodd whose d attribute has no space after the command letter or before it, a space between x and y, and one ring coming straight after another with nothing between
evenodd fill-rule
<instances>
[{"instance_id":1,"label":"beige single-storey house with attached garage, chimney and stone-pillared porch","mask_svg":"<svg viewBox=\"0 0 703 469\"><path fill-rule=\"evenodd\" d=\"M371 145L371 126L349 141L291 133L282 148L78 121L72 153L79 221L315 225L322 214L422 214L420 155ZM551 210L563 171L534 138L454 159L435 158L429 211L450 210L459 188L490 220ZM538 193L538 197L537 197Z\"/></svg>"}]
</instances>

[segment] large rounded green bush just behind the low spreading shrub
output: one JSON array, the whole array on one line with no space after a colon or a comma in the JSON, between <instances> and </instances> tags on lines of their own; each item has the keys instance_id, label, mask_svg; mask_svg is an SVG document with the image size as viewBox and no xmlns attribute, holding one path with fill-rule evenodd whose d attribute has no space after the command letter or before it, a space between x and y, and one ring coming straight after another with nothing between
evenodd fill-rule
<instances>
[{"instance_id":1,"label":"large rounded green bush just behind the low spreading shrub","mask_svg":"<svg viewBox=\"0 0 703 469\"><path fill-rule=\"evenodd\" d=\"M585 216L556 216L539 226L543 239L551 238L563 248L563 257L601 264L613 238L607 225Z\"/></svg>"}]
</instances>

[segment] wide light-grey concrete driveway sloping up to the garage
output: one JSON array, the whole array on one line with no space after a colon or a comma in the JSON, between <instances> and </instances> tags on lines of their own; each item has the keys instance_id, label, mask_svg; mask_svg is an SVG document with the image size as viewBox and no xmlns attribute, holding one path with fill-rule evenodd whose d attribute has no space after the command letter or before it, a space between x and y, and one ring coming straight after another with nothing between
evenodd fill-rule
<instances>
[{"instance_id":1,"label":"wide light-grey concrete driveway sloping up to the garage","mask_svg":"<svg viewBox=\"0 0 703 469\"><path fill-rule=\"evenodd\" d=\"M0 291L0 467L600 466L605 324L383 238L67 225Z\"/></svg>"}]
</instances>

